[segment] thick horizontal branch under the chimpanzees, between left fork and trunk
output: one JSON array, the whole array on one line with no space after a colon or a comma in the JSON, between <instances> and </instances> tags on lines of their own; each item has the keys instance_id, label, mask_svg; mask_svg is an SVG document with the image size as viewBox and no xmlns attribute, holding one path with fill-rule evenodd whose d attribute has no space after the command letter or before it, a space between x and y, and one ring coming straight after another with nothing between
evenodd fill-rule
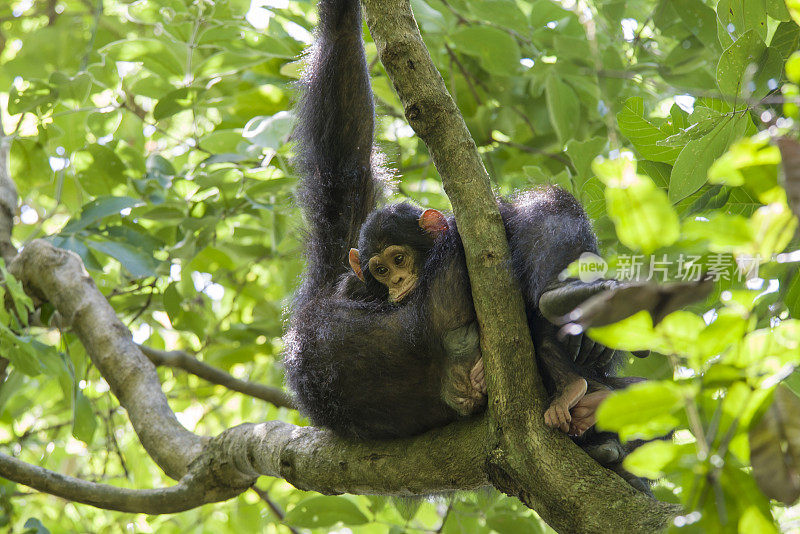
<instances>
[{"instance_id":1,"label":"thick horizontal branch under the chimpanzees, between left fork and trunk","mask_svg":"<svg viewBox=\"0 0 800 534\"><path fill-rule=\"evenodd\" d=\"M228 472L285 479L325 494L429 495L486 486L489 427L476 419L414 438L350 441L280 421L226 430L209 450L221 478Z\"/></svg>"}]
</instances>

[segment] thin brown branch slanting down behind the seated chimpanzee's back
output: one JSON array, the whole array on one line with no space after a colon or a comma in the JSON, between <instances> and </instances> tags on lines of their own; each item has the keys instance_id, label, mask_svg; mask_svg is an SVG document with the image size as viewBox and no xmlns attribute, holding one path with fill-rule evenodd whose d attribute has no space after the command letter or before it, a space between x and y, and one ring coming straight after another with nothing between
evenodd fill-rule
<instances>
[{"instance_id":1,"label":"thin brown branch slanting down behind the seated chimpanzee's back","mask_svg":"<svg viewBox=\"0 0 800 534\"><path fill-rule=\"evenodd\" d=\"M144 345L139 345L139 348L156 366L182 369L212 384L225 386L232 391L238 391L239 393L261 399L279 408L295 408L291 396L282 389L266 386L257 382L240 380L225 371L201 362L188 352L182 350L158 350Z\"/></svg>"}]
</instances>

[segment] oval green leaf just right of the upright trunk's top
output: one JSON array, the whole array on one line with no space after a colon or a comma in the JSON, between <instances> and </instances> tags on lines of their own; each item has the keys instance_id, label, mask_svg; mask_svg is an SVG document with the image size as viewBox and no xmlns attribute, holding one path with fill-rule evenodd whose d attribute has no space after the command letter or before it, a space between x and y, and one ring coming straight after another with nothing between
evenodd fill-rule
<instances>
[{"instance_id":1,"label":"oval green leaf just right of the upright trunk's top","mask_svg":"<svg viewBox=\"0 0 800 534\"><path fill-rule=\"evenodd\" d=\"M450 36L455 48L475 56L492 74L511 76L519 71L519 45L508 33L491 26L467 26Z\"/></svg>"}]
</instances>

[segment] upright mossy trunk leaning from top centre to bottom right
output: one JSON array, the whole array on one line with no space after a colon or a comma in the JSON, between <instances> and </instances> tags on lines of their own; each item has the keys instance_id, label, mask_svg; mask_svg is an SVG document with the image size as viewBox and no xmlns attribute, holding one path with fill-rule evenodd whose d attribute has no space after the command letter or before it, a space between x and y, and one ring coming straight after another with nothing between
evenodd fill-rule
<instances>
[{"instance_id":1,"label":"upright mossy trunk leaning from top centre to bottom right","mask_svg":"<svg viewBox=\"0 0 800 534\"><path fill-rule=\"evenodd\" d=\"M453 204L481 327L494 450L492 483L563 532L652 532L674 507L637 493L543 422L545 393L489 177L436 70L408 0L362 0L367 25L409 124Z\"/></svg>"}]
</instances>

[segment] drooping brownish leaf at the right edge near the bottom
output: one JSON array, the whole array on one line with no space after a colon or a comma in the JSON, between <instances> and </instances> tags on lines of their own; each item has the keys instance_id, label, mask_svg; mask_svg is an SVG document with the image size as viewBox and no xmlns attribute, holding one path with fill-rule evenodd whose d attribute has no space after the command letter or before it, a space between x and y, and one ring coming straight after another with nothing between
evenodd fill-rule
<instances>
[{"instance_id":1,"label":"drooping brownish leaf at the right edge near the bottom","mask_svg":"<svg viewBox=\"0 0 800 534\"><path fill-rule=\"evenodd\" d=\"M770 498L793 504L800 498L800 398L778 386L769 409L750 429L753 476Z\"/></svg>"}]
</instances>

